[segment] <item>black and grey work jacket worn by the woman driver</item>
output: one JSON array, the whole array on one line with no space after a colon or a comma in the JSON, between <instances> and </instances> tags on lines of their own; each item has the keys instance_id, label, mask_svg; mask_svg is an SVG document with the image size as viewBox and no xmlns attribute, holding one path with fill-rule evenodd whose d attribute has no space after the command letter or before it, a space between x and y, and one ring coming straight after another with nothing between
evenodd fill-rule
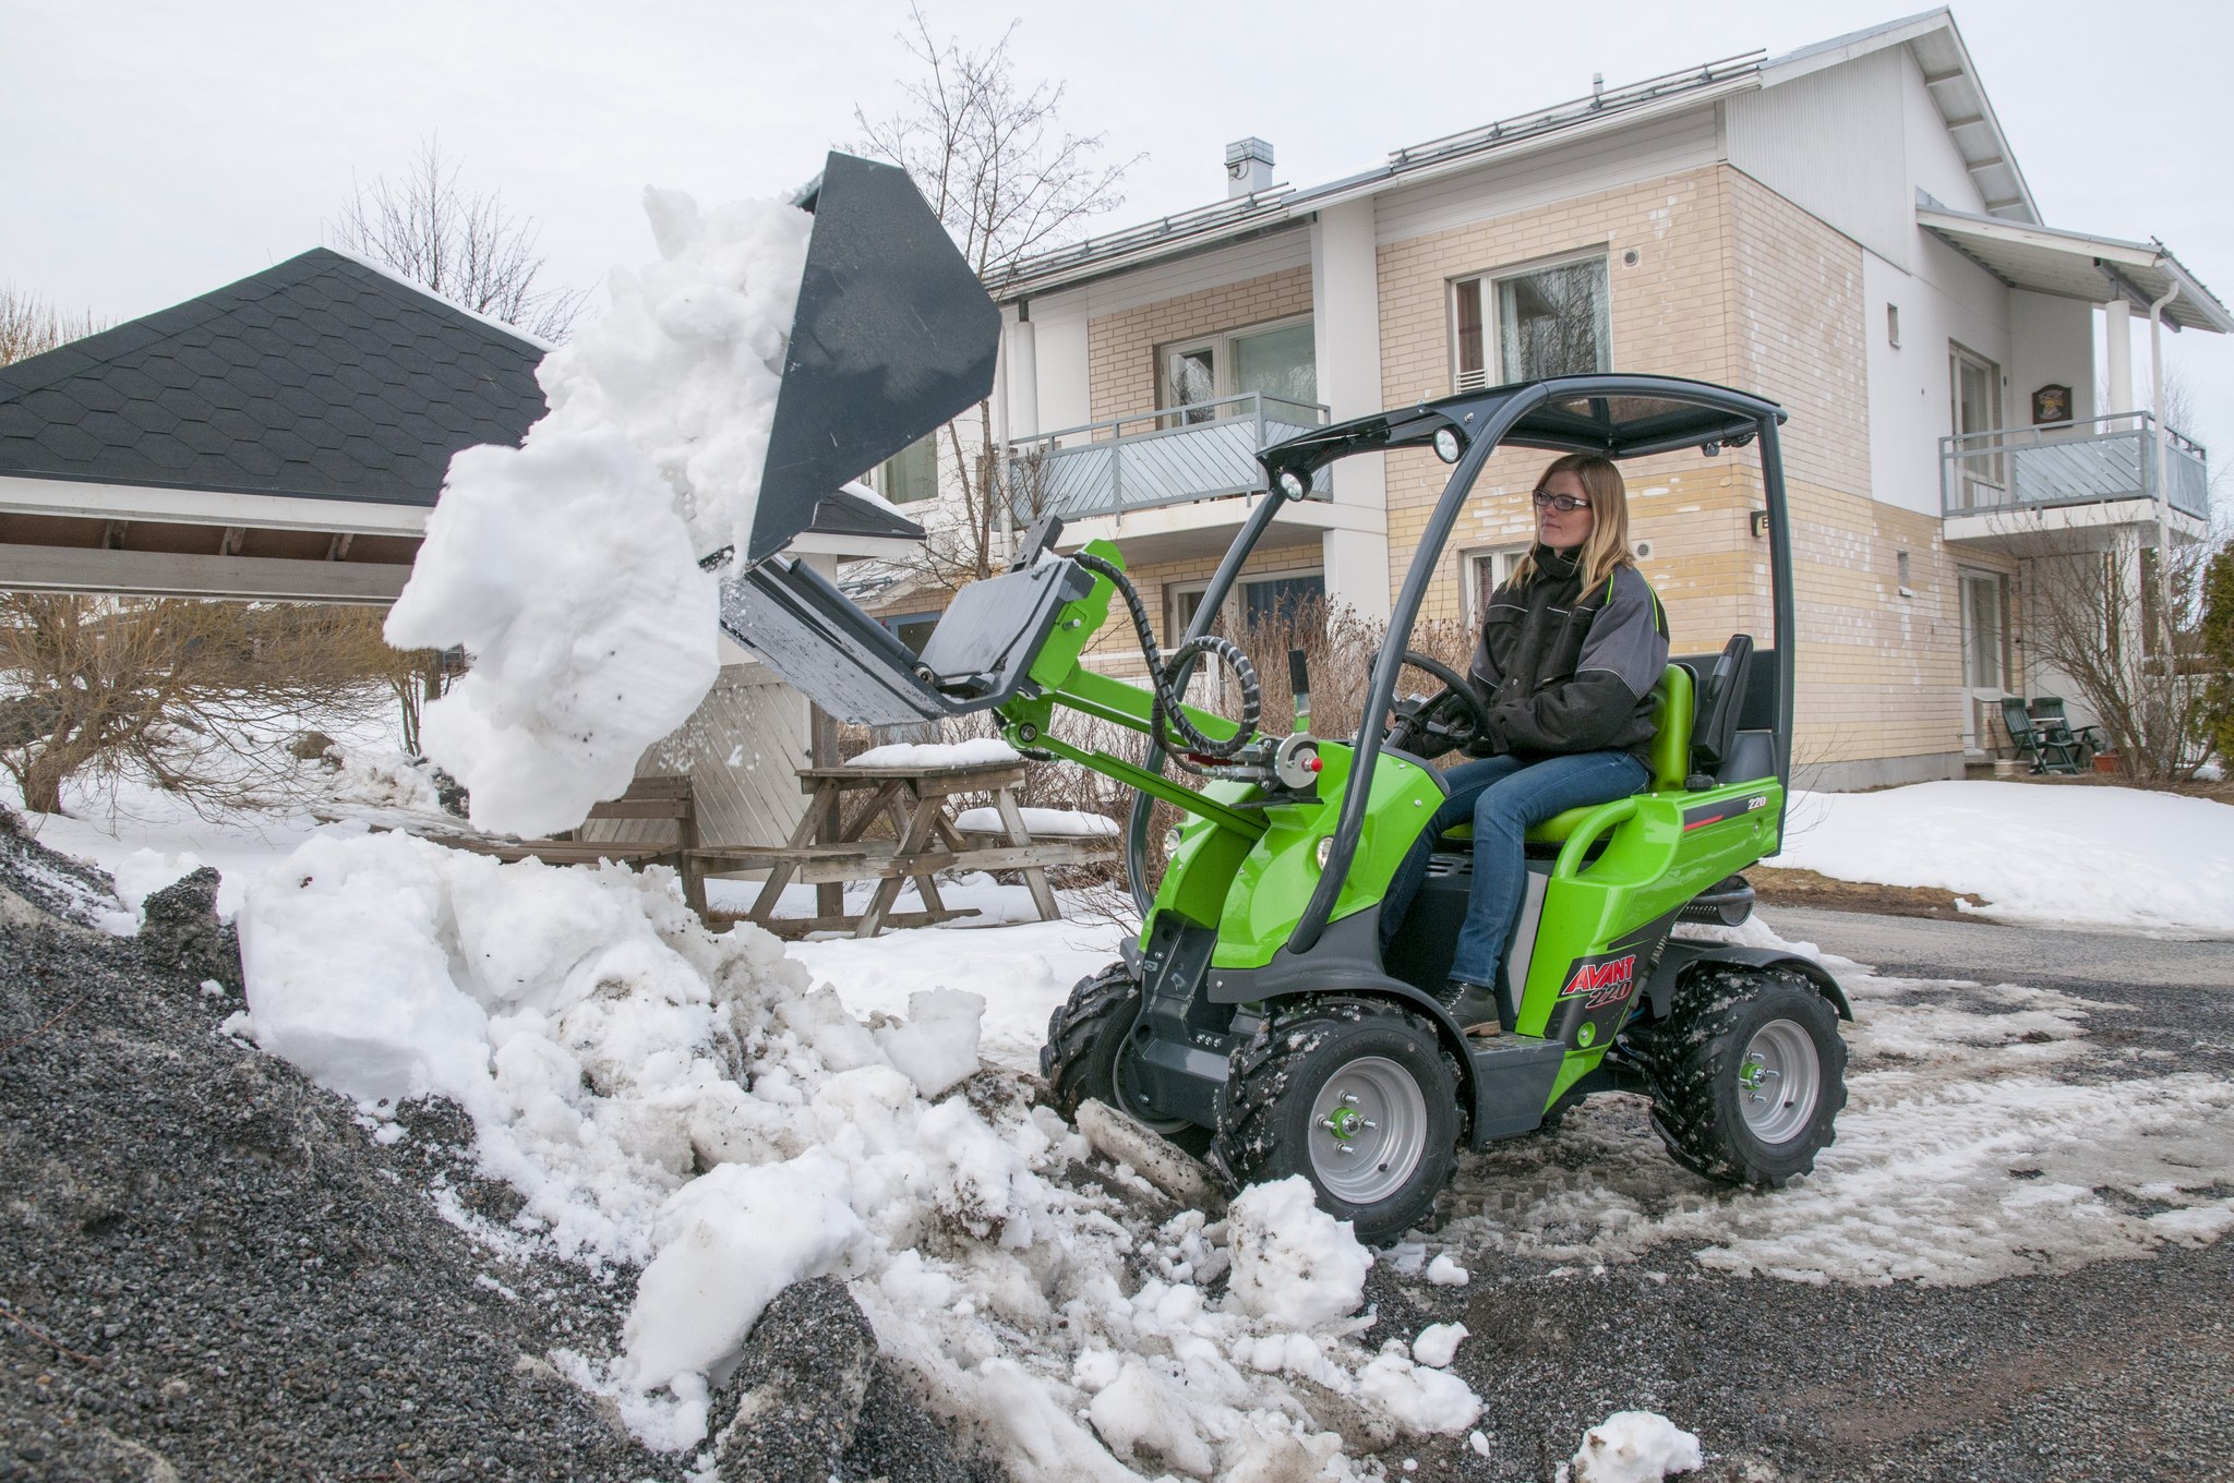
<instances>
[{"instance_id":1,"label":"black and grey work jacket worn by the woman driver","mask_svg":"<svg viewBox=\"0 0 2234 1483\"><path fill-rule=\"evenodd\" d=\"M1472 677L1490 701L1488 750L1644 757L1667 663L1667 612L1635 567L1584 592L1579 563L1537 545L1528 583L1501 585L1481 614Z\"/></svg>"}]
</instances>

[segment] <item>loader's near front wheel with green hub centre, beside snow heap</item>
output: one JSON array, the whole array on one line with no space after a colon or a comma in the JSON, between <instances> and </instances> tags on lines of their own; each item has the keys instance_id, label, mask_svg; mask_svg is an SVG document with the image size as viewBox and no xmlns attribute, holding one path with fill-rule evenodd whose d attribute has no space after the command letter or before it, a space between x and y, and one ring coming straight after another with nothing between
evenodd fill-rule
<instances>
[{"instance_id":1,"label":"loader's near front wheel with green hub centre, beside snow heap","mask_svg":"<svg viewBox=\"0 0 2234 1483\"><path fill-rule=\"evenodd\" d=\"M1459 1141L1459 1068L1434 1027L1376 998L1302 998L1233 1052L1211 1168L1238 1190L1302 1175L1361 1242L1434 1206Z\"/></svg>"}]
</instances>

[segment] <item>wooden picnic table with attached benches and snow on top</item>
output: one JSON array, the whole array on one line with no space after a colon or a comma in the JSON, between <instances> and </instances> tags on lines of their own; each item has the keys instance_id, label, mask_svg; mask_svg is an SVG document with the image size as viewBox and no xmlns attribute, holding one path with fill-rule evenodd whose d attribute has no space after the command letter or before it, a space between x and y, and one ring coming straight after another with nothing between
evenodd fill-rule
<instances>
[{"instance_id":1,"label":"wooden picnic table with attached benches and snow on top","mask_svg":"<svg viewBox=\"0 0 2234 1483\"><path fill-rule=\"evenodd\" d=\"M704 844L690 853L693 873L766 869L746 920L771 931L851 931L873 938L885 927L929 927L976 909L952 911L938 893L938 871L1023 871L1039 920L1059 911L1048 887L1050 864L1086 864L1117 853L1113 835L1034 840L1023 826L1014 788L1021 762L976 762L963 766L811 766L798 768L809 795L806 813L782 844ZM869 797L851 804L847 795ZM1001 815L1001 838L992 844L965 840L947 817L949 800L990 793ZM891 820L894 838L865 840L869 824ZM775 905L793 880L818 887L815 916L780 918ZM844 911L844 882L876 880L869 909ZM900 889L914 880L923 911L894 911Z\"/></svg>"}]
</instances>

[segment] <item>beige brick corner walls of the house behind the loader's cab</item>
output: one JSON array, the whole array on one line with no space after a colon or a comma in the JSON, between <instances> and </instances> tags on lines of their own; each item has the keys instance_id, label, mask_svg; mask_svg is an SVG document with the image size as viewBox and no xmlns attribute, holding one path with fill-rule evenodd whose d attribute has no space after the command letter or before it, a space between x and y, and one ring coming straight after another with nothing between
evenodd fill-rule
<instances>
[{"instance_id":1,"label":"beige brick corner walls of the house behind the loader's cab","mask_svg":"<svg viewBox=\"0 0 2234 1483\"><path fill-rule=\"evenodd\" d=\"M1713 165L1381 248L1383 384L1390 402L1448 395L1448 284L1604 246L1613 366L1760 393L1792 411L1785 487L1794 514L1801 692L1794 757L1859 764L1961 748L1961 625L1939 520L1870 498L1861 250L1736 170ZM1635 264L1624 255L1638 252ZM1461 554L1526 543L1526 491L1548 462L1490 462L1461 514L1428 616L1459 616ZM1678 652L1731 632L1767 641L1769 552L1751 449L1669 453L1624 467L1631 536L1669 607ZM1403 581L1445 469L1390 458L1390 583ZM1897 554L1910 592L1897 594Z\"/></svg>"}]
</instances>

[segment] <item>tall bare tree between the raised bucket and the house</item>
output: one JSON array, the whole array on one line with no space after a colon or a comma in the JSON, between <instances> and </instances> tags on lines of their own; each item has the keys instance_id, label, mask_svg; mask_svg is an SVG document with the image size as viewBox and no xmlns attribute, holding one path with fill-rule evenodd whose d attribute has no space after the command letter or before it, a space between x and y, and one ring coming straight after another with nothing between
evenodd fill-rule
<instances>
[{"instance_id":1,"label":"tall bare tree between the raised bucket and the house","mask_svg":"<svg viewBox=\"0 0 2234 1483\"><path fill-rule=\"evenodd\" d=\"M923 74L907 83L907 105L871 123L858 107L856 145L907 170L981 279L999 279L1023 257L1077 235L1097 212L1124 205L1117 183L1144 156L1101 161L1099 134L1061 127L1061 83L1016 76L1010 22L992 45L965 49L936 38L920 7L909 9L900 45ZM974 420L945 429L941 462L954 473L961 503L927 520L932 538L918 574L941 587L992 576L1001 511L1030 489L1012 487L992 447L992 404Z\"/></svg>"}]
</instances>

